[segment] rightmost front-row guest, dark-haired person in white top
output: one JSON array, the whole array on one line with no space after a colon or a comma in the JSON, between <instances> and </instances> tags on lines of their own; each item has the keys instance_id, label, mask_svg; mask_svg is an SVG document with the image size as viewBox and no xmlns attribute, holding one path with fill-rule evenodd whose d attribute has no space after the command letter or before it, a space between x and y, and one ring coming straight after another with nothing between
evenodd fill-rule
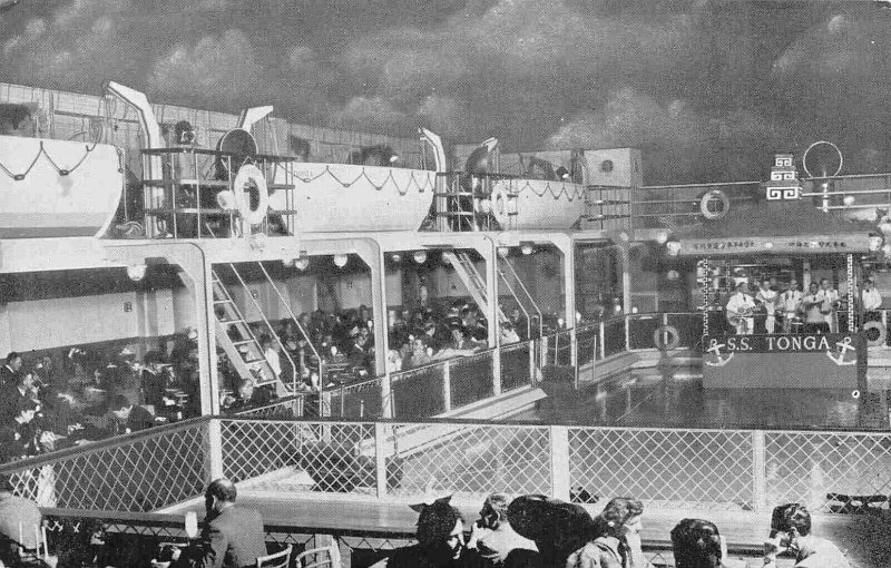
<instances>
[{"instance_id":1,"label":"rightmost front-row guest, dark-haired person in white top","mask_svg":"<svg viewBox=\"0 0 891 568\"><path fill-rule=\"evenodd\" d=\"M776 567L776 556L795 555L795 568L851 568L839 547L811 532L811 513L803 505L774 508L771 538L764 543L764 566Z\"/></svg>"}]
</instances>

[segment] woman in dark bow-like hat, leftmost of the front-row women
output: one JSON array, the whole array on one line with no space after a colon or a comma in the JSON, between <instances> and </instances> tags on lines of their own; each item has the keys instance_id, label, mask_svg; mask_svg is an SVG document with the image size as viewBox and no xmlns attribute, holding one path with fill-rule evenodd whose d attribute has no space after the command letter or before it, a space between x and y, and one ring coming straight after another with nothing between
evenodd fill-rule
<instances>
[{"instance_id":1,"label":"woman in dark bow-like hat, leftmost of the front-row women","mask_svg":"<svg viewBox=\"0 0 891 568\"><path fill-rule=\"evenodd\" d=\"M461 513L443 497L433 505L413 505L418 511L418 543L399 548L390 557L388 568L483 568L486 560L464 546L464 522Z\"/></svg>"}]
</instances>

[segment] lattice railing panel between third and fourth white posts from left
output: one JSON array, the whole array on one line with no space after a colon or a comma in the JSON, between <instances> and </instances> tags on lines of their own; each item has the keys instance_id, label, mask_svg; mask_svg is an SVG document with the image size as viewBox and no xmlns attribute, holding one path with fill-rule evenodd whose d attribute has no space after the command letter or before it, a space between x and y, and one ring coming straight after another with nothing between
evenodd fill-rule
<instances>
[{"instance_id":1,"label":"lattice railing panel between third and fourth white posts from left","mask_svg":"<svg viewBox=\"0 0 891 568\"><path fill-rule=\"evenodd\" d=\"M569 429L572 487L650 506L753 507L752 438L716 430Z\"/></svg>"}]
</instances>

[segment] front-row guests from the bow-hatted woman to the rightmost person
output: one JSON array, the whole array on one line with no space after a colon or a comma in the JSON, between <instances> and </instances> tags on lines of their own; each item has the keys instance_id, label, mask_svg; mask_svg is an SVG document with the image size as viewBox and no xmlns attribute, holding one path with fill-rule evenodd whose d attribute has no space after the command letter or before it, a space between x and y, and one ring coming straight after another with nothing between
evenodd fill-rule
<instances>
[{"instance_id":1,"label":"front-row guests from the bow-hatted woman to the rightmost person","mask_svg":"<svg viewBox=\"0 0 891 568\"><path fill-rule=\"evenodd\" d=\"M650 568L643 551L643 503L615 498L591 517L584 507L545 496L512 501L502 493L483 502L466 541L464 519L450 498L417 505L417 545L396 549L372 568ZM753 564L733 559L717 526L683 519L670 531L675 568L775 567L779 555L797 568L850 568L844 554L811 531L804 506L776 507L764 556Z\"/></svg>"}]
</instances>

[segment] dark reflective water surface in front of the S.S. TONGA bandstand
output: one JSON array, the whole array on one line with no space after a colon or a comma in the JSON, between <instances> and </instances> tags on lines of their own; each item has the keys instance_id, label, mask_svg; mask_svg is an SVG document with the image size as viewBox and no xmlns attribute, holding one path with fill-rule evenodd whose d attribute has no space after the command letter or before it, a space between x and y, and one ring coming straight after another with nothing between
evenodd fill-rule
<instances>
[{"instance_id":1,"label":"dark reflective water surface in front of the S.S. TONGA bandstand","mask_svg":"<svg viewBox=\"0 0 891 568\"><path fill-rule=\"evenodd\" d=\"M863 428L850 390L704 389L698 369L659 365L582 386L542 385L548 399L533 415L546 423L677 428ZM873 417L879 422L888 418ZM875 420L865 420L875 422ZM877 425L879 425L877 423Z\"/></svg>"}]
</instances>

